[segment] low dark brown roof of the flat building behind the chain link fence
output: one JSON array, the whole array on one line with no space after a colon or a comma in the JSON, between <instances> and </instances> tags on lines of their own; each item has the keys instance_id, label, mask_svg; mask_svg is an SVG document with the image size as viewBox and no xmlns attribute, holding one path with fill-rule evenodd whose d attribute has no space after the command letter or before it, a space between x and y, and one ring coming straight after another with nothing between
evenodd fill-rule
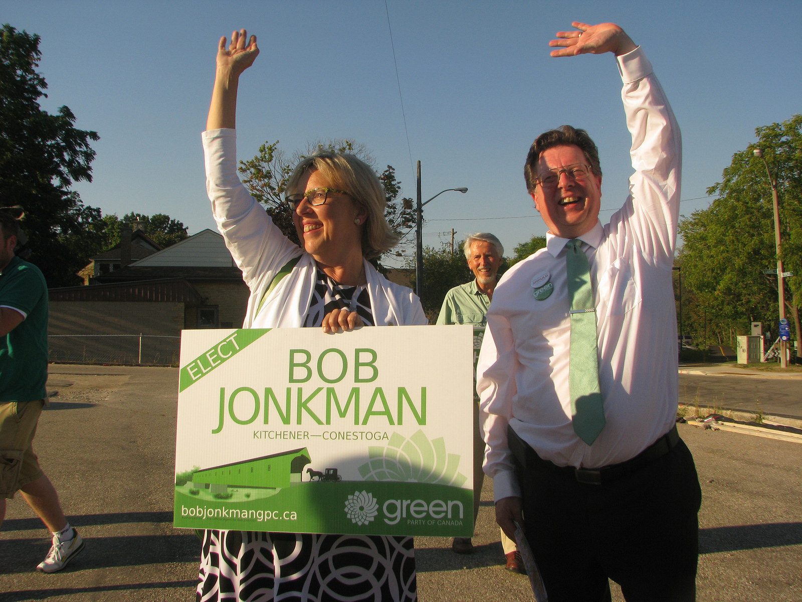
<instances>
[{"instance_id":1,"label":"low dark brown roof of the flat building behind the chain link fence","mask_svg":"<svg viewBox=\"0 0 802 602\"><path fill-rule=\"evenodd\" d=\"M204 298L186 279L155 279L137 282L60 287L47 291L53 301L172 301L203 304Z\"/></svg>"}]
</instances>

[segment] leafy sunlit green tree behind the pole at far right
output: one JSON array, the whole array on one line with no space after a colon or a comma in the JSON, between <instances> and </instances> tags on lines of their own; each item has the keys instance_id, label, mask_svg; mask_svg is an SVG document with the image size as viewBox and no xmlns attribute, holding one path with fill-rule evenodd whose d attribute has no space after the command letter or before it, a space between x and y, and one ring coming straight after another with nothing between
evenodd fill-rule
<instances>
[{"instance_id":1,"label":"leafy sunlit green tree behind the pole at far right","mask_svg":"<svg viewBox=\"0 0 802 602\"><path fill-rule=\"evenodd\" d=\"M702 321L708 340L711 333L719 340L746 334L751 321L771 324L772 334L777 332L777 279L764 273L776 269L772 190L755 148L763 149L777 181L784 269L802 275L802 115L756 128L755 135L754 144L733 155L722 181L708 189L719 197L679 224L683 283L698 303L695 314L707 314ZM785 284L799 339L802 281L795 276ZM700 316L690 317L701 340Z\"/></svg>"}]
</instances>

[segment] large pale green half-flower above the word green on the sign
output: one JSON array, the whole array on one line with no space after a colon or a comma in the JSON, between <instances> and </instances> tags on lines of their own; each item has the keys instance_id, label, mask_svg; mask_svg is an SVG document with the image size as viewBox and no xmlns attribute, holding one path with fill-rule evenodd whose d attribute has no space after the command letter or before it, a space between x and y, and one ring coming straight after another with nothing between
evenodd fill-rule
<instances>
[{"instance_id":1,"label":"large pale green half-flower above the word green on the sign","mask_svg":"<svg viewBox=\"0 0 802 602\"><path fill-rule=\"evenodd\" d=\"M448 454L443 437L429 441L423 430L411 437L393 433L386 447L367 448L368 462L359 466L365 481L439 483L455 487L468 480L458 470L460 455Z\"/></svg>"}]
</instances>

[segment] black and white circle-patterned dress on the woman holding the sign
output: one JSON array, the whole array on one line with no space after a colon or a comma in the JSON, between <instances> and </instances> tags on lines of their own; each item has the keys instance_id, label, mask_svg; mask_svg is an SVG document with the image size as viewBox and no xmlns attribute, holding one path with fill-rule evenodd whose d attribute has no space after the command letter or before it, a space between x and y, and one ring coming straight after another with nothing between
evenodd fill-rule
<instances>
[{"instance_id":1,"label":"black and white circle-patterned dress on the woman holding the sign","mask_svg":"<svg viewBox=\"0 0 802 602\"><path fill-rule=\"evenodd\" d=\"M342 287L318 269L305 326L334 308L372 326L364 286ZM205 531L196 600L415 602L411 537Z\"/></svg>"}]
</instances>

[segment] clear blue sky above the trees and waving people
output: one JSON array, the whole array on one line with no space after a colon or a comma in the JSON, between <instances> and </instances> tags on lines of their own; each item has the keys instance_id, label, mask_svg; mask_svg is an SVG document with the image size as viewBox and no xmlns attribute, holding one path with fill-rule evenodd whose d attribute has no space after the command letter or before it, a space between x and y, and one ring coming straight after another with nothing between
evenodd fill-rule
<instances>
[{"instance_id":1,"label":"clear blue sky above the trees and waving people","mask_svg":"<svg viewBox=\"0 0 802 602\"><path fill-rule=\"evenodd\" d=\"M488 230L505 254L545 234L522 165L533 138L572 124L602 159L602 222L631 173L611 55L549 57L573 20L613 21L646 51L683 130L683 199L705 197L755 127L802 112L802 5L763 2L19 2L2 22L41 36L43 108L66 104L100 140L87 205L167 213L190 234L214 228L205 127L221 35L245 27L261 55L241 81L239 155L281 140L348 137L393 165L415 196L421 161L425 244ZM403 98L406 130L399 100ZM407 145L408 132L408 145ZM711 199L683 201L682 213Z\"/></svg>"}]
</instances>

